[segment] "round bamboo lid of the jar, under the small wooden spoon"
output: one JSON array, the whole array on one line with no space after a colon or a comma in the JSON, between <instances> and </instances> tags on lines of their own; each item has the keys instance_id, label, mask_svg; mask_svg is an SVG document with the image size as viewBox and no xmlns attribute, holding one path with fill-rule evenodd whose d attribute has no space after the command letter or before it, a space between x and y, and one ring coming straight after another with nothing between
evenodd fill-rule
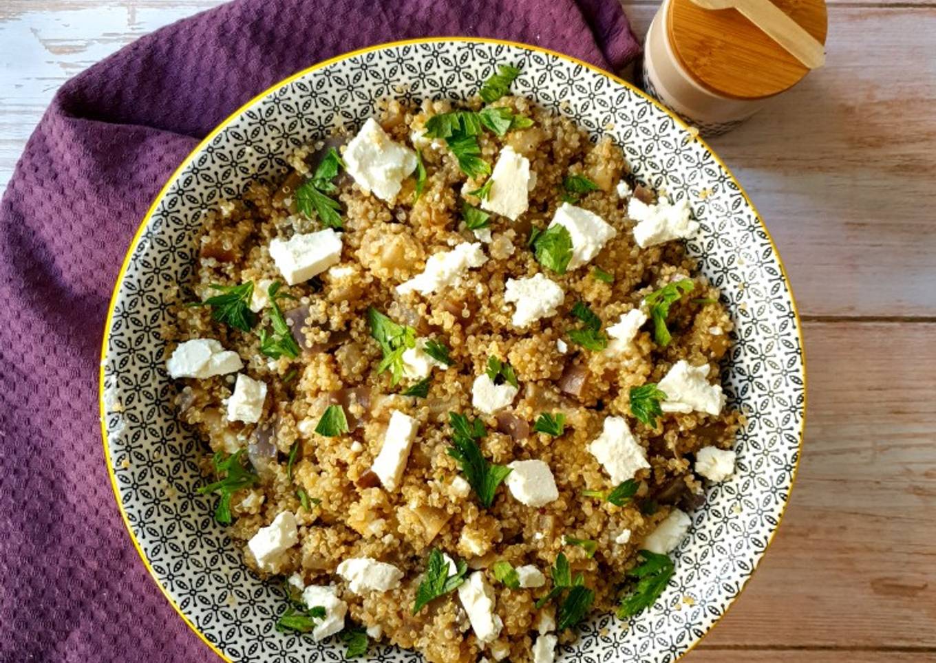
<instances>
[{"instance_id":1,"label":"round bamboo lid of the jar, under the small wooden spoon","mask_svg":"<svg viewBox=\"0 0 936 663\"><path fill-rule=\"evenodd\" d=\"M773 0L826 43L825 0ZM737 9L703 9L670 0L666 34L680 65L702 87L735 99L763 99L791 88L809 69Z\"/></svg>"}]
</instances>

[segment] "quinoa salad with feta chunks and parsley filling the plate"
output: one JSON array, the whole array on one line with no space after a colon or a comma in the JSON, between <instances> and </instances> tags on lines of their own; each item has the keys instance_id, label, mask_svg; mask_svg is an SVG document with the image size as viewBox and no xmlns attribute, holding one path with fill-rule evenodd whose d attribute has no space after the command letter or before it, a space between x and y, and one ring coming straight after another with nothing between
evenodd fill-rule
<instances>
[{"instance_id":1,"label":"quinoa salad with feta chunks and parsley filling the plate","mask_svg":"<svg viewBox=\"0 0 936 663\"><path fill-rule=\"evenodd\" d=\"M518 73L388 100L204 217L168 374L299 647L551 663L652 610L735 471L698 223Z\"/></svg>"}]
</instances>

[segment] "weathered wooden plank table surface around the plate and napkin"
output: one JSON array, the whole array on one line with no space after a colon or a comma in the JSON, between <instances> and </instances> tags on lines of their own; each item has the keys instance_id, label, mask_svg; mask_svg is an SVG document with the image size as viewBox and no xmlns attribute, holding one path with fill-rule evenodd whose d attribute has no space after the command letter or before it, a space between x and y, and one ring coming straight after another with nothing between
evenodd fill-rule
<instances>
[{"instance_id":1,"label":"weathered wooden plank table surface around the plate and napkin","mask_svg":"<svg viewBox=\"0 0 936 663\"><path fill-rule=\"evenodd\" d=\"M828 0L827 63L711 141L793 281L806 443L779 536L687 663L936 660L936 0ZM56 88L216 0L0 2L0 192ZM626 0L643 35L656 2Z\"/></svg>"}]
</instances>

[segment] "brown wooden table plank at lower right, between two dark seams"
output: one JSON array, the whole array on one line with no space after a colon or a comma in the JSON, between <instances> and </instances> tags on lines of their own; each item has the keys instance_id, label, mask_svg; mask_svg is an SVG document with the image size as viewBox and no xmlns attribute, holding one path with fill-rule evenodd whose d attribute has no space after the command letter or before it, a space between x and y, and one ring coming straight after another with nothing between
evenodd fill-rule
<instances>
[{"instance_id":1,"label":"brown wooden table plank at lower right, between two dark seams","mask_svg":"<svg viewBox=\"0 0 936 663\"><path fill-rule=\"evenodd\" d=\"M791 503L704 644L928 647L936 660L936 324L807 323L805 334Z\"/></svg>"}]
</instances>

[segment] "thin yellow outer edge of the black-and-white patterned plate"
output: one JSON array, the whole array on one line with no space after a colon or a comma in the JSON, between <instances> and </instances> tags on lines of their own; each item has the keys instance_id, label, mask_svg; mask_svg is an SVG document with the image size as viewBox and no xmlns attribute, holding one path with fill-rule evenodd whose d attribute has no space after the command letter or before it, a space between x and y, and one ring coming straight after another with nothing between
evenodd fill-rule
<instances>
[{"instance_id":1,"label":"thin yellow outer edge of the black-and-white patterned plate","mask_svg":"<svg viewBox=\"0 0 936 663\"><path fill-rule=\"evenodd\" d=\"M804 433L806 430L806 410L807 410L807 403L808 403L808 398L809 398L809 389L808 389L808 383L807 383L807 370L806 370L806 352L805 352L805 343L803 339L803 324L802 324L802 320L799 317L799 310L797 308L797 300L793 292L793 286L790 283L790 279L786 273L786 267L784 267L783 265L780 252L777 250L777 245L774 242L773 237L770 235L770 231L768 230L767 225L764 223L764 220L761 218L760 212L757 210L756 207L754 207L754 204L750 196L748 196L747 192L744 190L744 187L741 186L740 182L735 177L735 174L724 163L724 161L718 155L718 153L712 150L709 144L706 143L705 140L703 140L701 137L698 137L697 133L692 130L692 127L689 124L687 124L684 120L682 120L682 118L680 118L679 115L675 114L669 108L666 108L665 106L663 106L660 102L658 102L656 99L651 97L649 94L646 94L645 92L637 88L636 85L634 85L633 83L630 83L618 77L617 75L612 74L605 69L602 69L601 67L597 65L592 65L591 63L587 63L583 60L579 60L578 58L572 55L566 55L565 53L559 52L558 50L550 50L550 49L543 48L541 46L534 46L532 44L524 44L519 41L510 41L507 39L495 39L491 37L480 37L480 36L420 37L416 39L402 39L399 41L388 41L382 44L368 46L363 49L350 50L348 52L329 58L328 60L323 60L322 62L306 67L305 69L302 69L296 72L292 76L289 76L285 79L282 79L273 83L266 90L263 90L259 94L256 94L254 97L252 97L251 99L246 101L244 104L242 104L240 108L237 108L236 110L234 110L234 112L228 115L227 118L225 118L221 123L215 126L211 132L209 132L204 138L202 138L202 140L195 146L195 148L193 148L193 150L190 151L185 156L182 163L178 167L176 167L175 170L172 171L172 174L169 175L168 179L166 180L166 183L159 190L159 192L154 196L153 203L150 205L149 209L146 210L146 214L143 216L142 220L140 221L139 226L137 227L137 231L134 233L133 238L131 238L129 245L127 246L126 253L124 254L124 261L121 264L120 271L117 273L117 279L114 281L114 287L110 294L110 302L108 304L108 315L107 315L107 318L105 319L104 335L103 335L103 338L101 339L100 368L99 368L99 376L98 376L98 409L100 411L99 420L100 420L100 425L101 425L101 440L103 441L104 464L107 467L108 475L110 476L110 487L113 491L114 499L117 502L117 509L121 514L121 519L124 521L124 527L126 528L127 534L130 536L130 540L133 543L133 547L136 549L140 560L143 562L143 566L146 568L150 576L153 578L154 583L159 588L159 590L163 593L163 596L166 597L172 609L176 613L178 613L179 616L182 618L183 622L197 635L197 637L202 642L204 642L212 650L212 652L214 652L214 654L219 656L222 660L227 661L227 663L236 663L236 662L228 658L227 656L225 656L218 647L216 647L214 644L212 644L211 641L208 640L205 634L202 633L198 629L198 627L196 627L196 625L192 622L191 619L188 618L187 615L185 615L185 613L183 613L182 609L179 607L176 601L169 595L168 589L166 588L166 586L159 581L159 578L156 575L156 572L153 569L153 566L150 564L149 559L147 558L146 554L143 552L143 549L139 544L139 540L137 540L137 537L133 532L133 528L130 526L127 513L124 510L124 506L121 502L120 488L117 484L117 477L114 473L114 468L110 464L110 445L108 443L107 409L106 409L106 404L105 404L105 365L106 365L106 359L107 359L108 344L110 341L110 329L111 329L111 325L113 324L114 309L117 304L117 296L120 292L120 286L124 281L124 277L126 276L126 270L130 265L130 259L133 255L133 252L136 249L137 245L139 244L139 241L142 238L147 225L149 225L151 217L153 216L154 211L158 207L159 202L168 193L169 187L182 174L183 170L187 166L189 166L193 160L197 158L198 153L202 151L202 149L204 149L207 145L209 145L214 139L214 137L217 137L218 134L223 132L227 128L228 124L236 121L247 108L250 108L256 102L260 101L261 99L263 99L269 94L275 93L277 90L279 90L280 88L282 88L283 86L289 84L290 82L294 80L300 79L304 77L305 75L312 73L318 69L322 69L329 65L333 65L335 63L341 62L348 58L362 55L364 53L373 52L375 50L384 50L384 49L413 45L413 44L430 44L430 43L446 43L446 42L475 42L475 43L486 43L486 44L500 44L503 46L513 47L516 49L532 50L532 51L536 51L540 53L545 53L552 57L556 57L561 60L565 60L569 63L573 63L575 65L584 66L596 74L607 77L608 79L613 80L619 85L622 85L623 87L628 88L633 93L637 94L638 96L643 98L645 101L648 101L654 107L658 108L659 110L663 111L666 115L668 115L673 120L673 122L676 123L683 131L685 131L695 142L699 143L702 146L702 148L705 149L706 151L709 151L709 154L711 154L712 159L714 159L714 161L724 169L724 172L727 173L731 181L738 187L738 191L740 195L744 198L745 203L751 209L754 219L757 220L757 223L760 224L761 229L764 231L764 234L768 239L773 255L777 260L777 264L780 266L782 280L787 288L787 292L789 293L790 305L793 309L793 313L796 318L795 322L797 326L797 339L799 341L799 349L800 349L799 364L800 364L800 369L802 371L802 378L803 378L802 416L800 417L800 426L799 426L799 432L798 432L796 464L794 465L794 468L790 474L790 485L787 488L787 491L788 491L787 498L784 501L782 505L782 509L778 515L777 525L774 526L773 530L770 532L767 545L764 547L764 550L761 552L760 556L754 561L754 564L755 564L754 570L756 570L756 566L760 565L760 560L763 559L764 555L767 554L768 548L770 547L770 544L773 543L774 537L777 534L777 530L780 529L783 516L786 514L786 509L790 504L789 494L792 493L793 486L796 484L797 473L799 471L799 463L800 463L800 459L802 458L803 438L804 438ZM753 578L753 572L750 575L748 575L747 578L744 579L743 584L741 584L738 593L733 598L728 599L728 602L724 606L724 612L721 613L715 619L714 622L712 622L711 626L695 642L693 642L684 652L682 652L680 655L677 656L677 659L674 659L674 660L678 660L682 658L683 656L686 656L687 654L689 654L689 652L693 651L696 645L698 645L699 642L701 642L707 635L709 635L709 633L712 631L714 627L718 626L718 623L722 621L722 619L724 619L724 615L728 613L728 610L731 609L731 606L734 605L735 601L747 588L748 583L751 582L751 578Z\"/></svg>"}]
</instances>

